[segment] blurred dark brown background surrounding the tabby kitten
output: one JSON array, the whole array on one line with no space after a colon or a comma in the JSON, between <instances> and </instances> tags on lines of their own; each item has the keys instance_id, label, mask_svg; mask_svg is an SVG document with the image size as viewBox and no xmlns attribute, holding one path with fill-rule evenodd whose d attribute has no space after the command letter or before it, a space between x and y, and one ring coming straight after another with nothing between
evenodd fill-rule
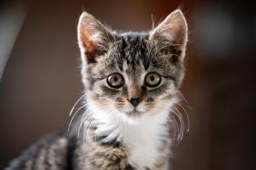
<instances>
[{"instance_id":1,"label":"blurred dark brown background surrounding the tabby kitten","mask_svg":"<svg viewBox=\"0 0 256 170\"><path fill-rule=\"evenodd\" d=\"M83 10L113 29L143 31L177 7L190 28L182 93L191 129L174 148L173 170L256 169L256 9L221 0L1 1L0 169L69 122L83 90Z\"/></svg>"}]
</instances>

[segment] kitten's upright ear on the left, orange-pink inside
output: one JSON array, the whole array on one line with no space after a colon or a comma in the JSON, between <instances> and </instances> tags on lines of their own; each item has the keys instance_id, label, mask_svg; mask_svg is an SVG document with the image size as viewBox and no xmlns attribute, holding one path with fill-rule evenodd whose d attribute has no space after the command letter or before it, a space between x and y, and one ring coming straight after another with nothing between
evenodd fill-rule
<instances>
[{"instance_id":1,"label":"kitten's upright ear on the left, orange-pink inside","mask_svg":"<svg viewBox=\"0 0 256 170\"><path fill-rule=\"evenodd\" d=\"M77 26L78 43L82 57L87 63L95 62L95 58L103 55L113 41L112 33L101 24L92 14L84 12Z\"/></svg>"}]
</instances>

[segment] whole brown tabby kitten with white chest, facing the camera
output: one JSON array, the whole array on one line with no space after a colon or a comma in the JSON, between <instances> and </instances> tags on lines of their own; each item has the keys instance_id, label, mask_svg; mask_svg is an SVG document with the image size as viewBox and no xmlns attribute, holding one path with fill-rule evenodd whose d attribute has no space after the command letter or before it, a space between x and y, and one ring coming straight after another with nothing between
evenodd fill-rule
<instances>
[{"instance_id":1,"label":"whole brown tabby kitten with white chest, facing the camera","mask_svg":"<svg viewBox=\"0 0 256 170\"><path fill-rule=\"evenodd\" d=\"M180 10L149 33L116 33L84 12L78 24L81 123L74 122L70 135L44 137L6 170L169 169L170 111L179 99L186 42Z\"/></svg>"}]
</instances>

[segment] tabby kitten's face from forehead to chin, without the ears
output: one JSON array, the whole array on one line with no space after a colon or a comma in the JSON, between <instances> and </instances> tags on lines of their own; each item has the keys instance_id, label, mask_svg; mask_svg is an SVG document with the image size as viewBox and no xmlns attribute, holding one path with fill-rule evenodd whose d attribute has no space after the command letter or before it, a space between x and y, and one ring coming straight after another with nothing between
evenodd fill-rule
<instances>
[{"instance_id":1,"label":"tabby kitten's face from forehead to chin, without the ears","mask_svg":"<svg viewBox=\"0 0 256 170\"><path fill-rule=\"evenodd\" d=\"M125 35L87 68L88 98L128 116L157 114L176 98L182 65L146 35Z\"/></svg>"}]
</instances>

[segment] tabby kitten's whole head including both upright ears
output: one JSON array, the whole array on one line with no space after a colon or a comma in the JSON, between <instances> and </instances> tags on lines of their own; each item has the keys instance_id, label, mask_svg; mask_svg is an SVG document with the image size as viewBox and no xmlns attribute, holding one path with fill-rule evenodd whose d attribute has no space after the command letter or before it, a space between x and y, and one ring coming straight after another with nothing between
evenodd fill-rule
<instances>
[{"instance_id":1,"label":"tabby kitten's whole head including both upright ears","mask_svg":"<svg viewBox=\"0 0 256 170\"><path fill-rule=\"evenodd\" d=\"M116 33L93 15L78 24L86 100L125 118L152 117L177 101L187 24L180 10L149 33Z\"/></svg>"}]
</instances>

